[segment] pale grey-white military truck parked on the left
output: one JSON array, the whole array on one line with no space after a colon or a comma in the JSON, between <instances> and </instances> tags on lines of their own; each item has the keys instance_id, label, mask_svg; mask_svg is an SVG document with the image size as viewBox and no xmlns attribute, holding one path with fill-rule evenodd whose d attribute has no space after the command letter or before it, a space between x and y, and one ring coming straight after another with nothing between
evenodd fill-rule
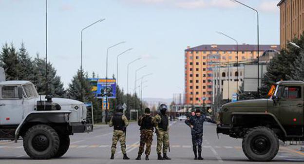
<instances>
[{"instance_id":1,"label":"pale grey-white military truck parked on the left","mask_svg":"<svg viewBox=\"0 0 304 164\"><path fill-rule=\"evenodd\" d=\"M5 81L0 68L0 140L23 140L31 158L63 156L69 135L93 131L86 116L83 102L39 96L32 82Z\"/></svg>"}]
</instances>

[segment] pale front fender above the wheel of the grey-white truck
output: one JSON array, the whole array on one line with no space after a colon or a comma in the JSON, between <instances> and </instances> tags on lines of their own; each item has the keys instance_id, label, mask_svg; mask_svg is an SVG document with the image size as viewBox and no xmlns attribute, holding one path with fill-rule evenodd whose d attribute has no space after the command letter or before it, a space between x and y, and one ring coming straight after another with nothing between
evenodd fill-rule
<instances>
[{"instance_id":1,"label":"pale front fender above the wheel of the grey-white truck","mask_svg":"<svg viewBox=\"0 0 304 164\"><path fill-rule=\"evenodd\" d=\"M23 125L28 122L40 123L68 123L71 111L32 111L26 115L15 131L15 142L19 139L19 132Z\"/></svg>"}]
</instances>

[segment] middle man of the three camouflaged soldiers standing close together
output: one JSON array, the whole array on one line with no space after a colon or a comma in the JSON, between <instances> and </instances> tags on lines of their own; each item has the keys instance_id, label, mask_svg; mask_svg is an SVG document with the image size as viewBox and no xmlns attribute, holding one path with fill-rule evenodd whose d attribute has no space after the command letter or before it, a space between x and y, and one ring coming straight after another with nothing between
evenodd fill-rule
<instances>
[{"instance_id":1,"label":"middle man of the three camouflaged soldiers standing close together","mask_svg":"<svg viewBox=\"0 0 304 164\"><path fill-rule=\"evenodd\" d=\"M150 113L150 108L146 108L144 115L138 120L138 125L140 126L140 144L136 160L141 160L141 155L144 152L145 144L146 160L149 160L151 145L153 141L153 130L154 127L157 126L154 117L152 117Z\"/></svg>"}]
</instances>

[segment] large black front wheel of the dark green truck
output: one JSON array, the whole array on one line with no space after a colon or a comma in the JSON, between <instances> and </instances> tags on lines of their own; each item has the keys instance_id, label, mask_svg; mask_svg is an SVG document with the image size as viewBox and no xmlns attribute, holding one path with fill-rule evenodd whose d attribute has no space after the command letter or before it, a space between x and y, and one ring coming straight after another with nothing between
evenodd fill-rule
<instances>
[{"instance_id":1,"label":"large black front wheel of the dark green truck","mask_svg":"<svg viewBox=\"0 0 304 164\"><path fill-rule=\"evenodd\" d=\"M271 129L258 126L247 130L242 148L251 161L271 161L279 151L279 139Z\"/></svg>"}]
</instances>

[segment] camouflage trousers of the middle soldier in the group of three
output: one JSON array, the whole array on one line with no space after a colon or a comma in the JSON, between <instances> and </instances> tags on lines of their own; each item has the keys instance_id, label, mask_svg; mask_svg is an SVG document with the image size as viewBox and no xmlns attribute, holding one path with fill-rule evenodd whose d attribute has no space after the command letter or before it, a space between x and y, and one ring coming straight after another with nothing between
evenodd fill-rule
<instances>
[{"instance_id":1,"label":"camouflage trousers of the middle soldier in the group of three","mask_svg":"<svg viewBox=\"0 0 304 164\"><path fill-rule=\"evenodd\" d=\"M146 144L145 154L147 156L150 155L152 141L153 141L153 130L148 130L148 129L141 130L138 155L142 155L142 153L144 152L145 144Z\"/></svg>"}]
</instances>

